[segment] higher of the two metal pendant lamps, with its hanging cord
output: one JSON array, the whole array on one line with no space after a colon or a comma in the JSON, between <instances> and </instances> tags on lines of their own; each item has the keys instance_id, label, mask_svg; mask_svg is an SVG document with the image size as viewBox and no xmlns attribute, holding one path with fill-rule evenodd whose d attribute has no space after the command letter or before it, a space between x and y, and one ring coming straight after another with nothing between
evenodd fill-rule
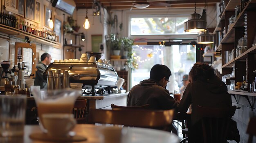
<instances>
[{"instance_id":1,"label":"higher of the two metal pendant lamps, with its hanging cord","mask_svg":"<svg viewBox=\"0 0 256 143\"><path fill-rule=\"evenodd\" d=\"M205 32L207 30L207 22L200 19L201 15L196 13L196 7L191 19L184 22L185 32Z\"/></svg>"}]
</instances>

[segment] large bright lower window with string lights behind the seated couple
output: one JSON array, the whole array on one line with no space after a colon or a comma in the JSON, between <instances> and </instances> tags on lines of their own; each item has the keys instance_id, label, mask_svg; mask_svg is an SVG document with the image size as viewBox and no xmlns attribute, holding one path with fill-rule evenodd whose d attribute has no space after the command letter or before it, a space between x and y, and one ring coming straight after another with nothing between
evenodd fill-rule
<instances>
[{"instance_id":1,"label":"large bright lower window with string lights behind the seated couple","mask_svg":"<svg viewBox=\"0 0 256 143\"><path fill-rule=\"evenodd\" d=\"M150 69L155 64L164 64L170 68L172 76L167 89L172 92L179 89L182 83L182 76L189 74L195 63L196 47L194 45L136 45L133 46L133 57L138 67L132 70L132 87L140 81L148 79Z\"/></svg>"}]
</instances>

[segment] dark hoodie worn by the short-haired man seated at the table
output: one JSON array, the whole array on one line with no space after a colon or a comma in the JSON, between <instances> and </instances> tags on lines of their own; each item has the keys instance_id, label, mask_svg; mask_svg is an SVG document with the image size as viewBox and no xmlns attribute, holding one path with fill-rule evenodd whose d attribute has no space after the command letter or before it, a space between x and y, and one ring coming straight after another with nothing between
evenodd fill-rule
<instances>
[{"instance_id":1,"label":"dark hoodie worn by the short-haired man seated at the table","mask_svg":"<svg viewBox=\"0 0 256 143\"><path fill-rule=\"evenodd\" d=\"M154 110L176 108L178 101L170 96L169 91L159 86L153 79L145 79L134 86L128 94L127 106L142 106L150 104Z\"/></svg>"}]
</instances>

